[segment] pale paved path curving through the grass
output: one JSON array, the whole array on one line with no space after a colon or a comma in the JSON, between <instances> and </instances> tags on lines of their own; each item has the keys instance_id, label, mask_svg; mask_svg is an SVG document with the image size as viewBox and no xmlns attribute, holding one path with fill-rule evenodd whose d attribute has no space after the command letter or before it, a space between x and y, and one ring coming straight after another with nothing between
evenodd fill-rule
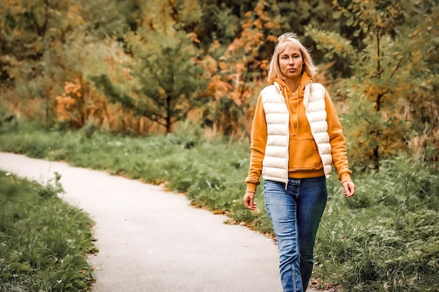
<instances>
[{"instance_id":1,"label":"pale paved path curving through the grass","mask_svg":"<svg viewBox=\"0 0 439 292\"><path fill-rule=\"evenodd\" d=\"M40 182L62 175L63 198L96 223L95 292L282 291L276 244L184 195L11 153L0 153L0 169Z\"/></svg>"}]
</instances>

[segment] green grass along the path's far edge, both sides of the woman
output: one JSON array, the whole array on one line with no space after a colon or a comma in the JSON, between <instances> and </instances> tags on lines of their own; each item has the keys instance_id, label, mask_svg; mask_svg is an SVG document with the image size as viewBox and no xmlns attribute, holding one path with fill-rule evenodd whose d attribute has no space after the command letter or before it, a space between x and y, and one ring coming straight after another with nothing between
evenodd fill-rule
<instances>
[{"instance_id":1,"label":"green grass along the path's far edge, both sides of the woman","mask_svg":"<svg viewBox=\"0 0 439 292\"><path fill-rule=\"evenodd\" d=\"M166 137L119 137L100 132L58 132L16 125L0 128L0 149L115 175L163 184L192 204L227 214L271 235L262 188L258 211L243 207L248 141L205 139L190 125ZM313 277L340 291L439 290L439 174L415 158L384 162L381 171L356 174L356 196L343 197L327 181L329 200L316 242Z\"/></svg>"}]
</instances>

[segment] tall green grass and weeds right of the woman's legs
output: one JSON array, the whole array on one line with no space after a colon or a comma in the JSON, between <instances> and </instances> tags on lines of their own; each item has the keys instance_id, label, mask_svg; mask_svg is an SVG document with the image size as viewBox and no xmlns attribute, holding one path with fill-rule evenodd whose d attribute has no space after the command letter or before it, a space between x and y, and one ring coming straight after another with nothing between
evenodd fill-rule
<instances>
[{"instance_id":1,"label":"tall green grass and weeds right of the woman's legs","mask_svg":"<svg viewBox=\"0 0 439 292\"><path fill-rule=\"evenodd\" d=\"M357 176L353 200L330 197L316 245L320 277L346 291L437 291L438 176L400 158Z\"/></svg>"}]
</instances>

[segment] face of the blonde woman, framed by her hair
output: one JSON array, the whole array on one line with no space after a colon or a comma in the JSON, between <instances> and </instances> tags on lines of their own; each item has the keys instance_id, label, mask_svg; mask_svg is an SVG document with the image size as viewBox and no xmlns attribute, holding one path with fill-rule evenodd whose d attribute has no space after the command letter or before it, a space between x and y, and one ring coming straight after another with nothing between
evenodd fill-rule
<instances>
[{"instance_id":1,"label":"face of the blonde woman, framed by her hair","mask_svg":"<svg viewBox=\"0 0 439 292\"><path fill-rule=\"evenodd\" d=\"M279 67L281 67L281 72L287 79L300 78L303 64L302 53L299 48L291 44L288 44L285 50L279 54Z\"/></svg>"}]
</instances>

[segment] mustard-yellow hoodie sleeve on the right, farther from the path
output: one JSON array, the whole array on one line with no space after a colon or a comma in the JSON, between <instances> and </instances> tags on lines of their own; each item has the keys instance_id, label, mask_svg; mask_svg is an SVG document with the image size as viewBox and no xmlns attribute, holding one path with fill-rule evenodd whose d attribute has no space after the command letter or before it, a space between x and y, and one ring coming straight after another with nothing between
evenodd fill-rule
<instances>
[{"instance_id":1,"label":"mustard-yellow hoodie sleeve on the right, farther from the path","mask_svg":"<svg viewBox=\"0 0 439 292\"><path fill-rule=\"evenodd\" d=\"M337 111L327 90L325 90L325 104L328 134L332 148L332 164L337 171L340 181L350 181L352 172L348 164L346 139L343 134L342 124L337 116Z\"/></svg>"}]
</instances>

